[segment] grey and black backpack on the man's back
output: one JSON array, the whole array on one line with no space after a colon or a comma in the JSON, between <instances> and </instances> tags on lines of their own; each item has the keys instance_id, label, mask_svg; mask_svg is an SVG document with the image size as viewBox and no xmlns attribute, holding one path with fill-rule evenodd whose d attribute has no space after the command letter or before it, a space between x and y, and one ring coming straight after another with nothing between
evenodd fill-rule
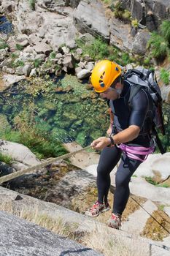
<instances>
[{"instance_id":1,"label":"grey and black backpack on the man's back","mask_svg":"<svg viewBox=\"0 0 170 256\"><path fill-rule=\"evenodd\" d=\"M166 153L160 138L158 138L158 132L155 129L155 127L161 129L162 134L165 135L161 90L158 86L155 72L150 69L139 67L138 69L129 69L128 72L123 75L123 78L131 85L131 92L128 101L129 106L131 106L131 100L139 89L144 88L150 93L153 101L152 134L155 136L155 142L157 143L161 154Z\"/></svg>"}]
</instances>

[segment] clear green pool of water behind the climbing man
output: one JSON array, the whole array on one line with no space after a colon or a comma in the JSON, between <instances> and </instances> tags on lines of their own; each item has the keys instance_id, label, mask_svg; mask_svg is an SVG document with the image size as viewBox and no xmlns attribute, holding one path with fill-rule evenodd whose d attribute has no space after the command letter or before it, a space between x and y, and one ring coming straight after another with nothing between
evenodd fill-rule
<instances>
[{"instance_id":1,"label":"clear green pool of water behind the climbing man","mask_svg":"<svg viewBox=\"0 0 170 256\"><path fill-rule=\"evenodd\" d=\"M63 143L76 140L82 146L105 135L106 102L72 75L54 81L36 78L1 93L0 117L7 119L7 126L17 129L23 120Z\"/></svg>"}]
</instances>

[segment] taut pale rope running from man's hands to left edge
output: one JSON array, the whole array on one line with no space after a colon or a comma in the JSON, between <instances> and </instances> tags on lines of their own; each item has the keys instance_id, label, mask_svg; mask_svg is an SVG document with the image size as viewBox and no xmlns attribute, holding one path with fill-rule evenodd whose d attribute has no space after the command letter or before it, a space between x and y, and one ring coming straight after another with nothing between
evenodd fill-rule
<instances>
[{"instance_id":1,"label":"taut pale rope running from man's hands to left edge","mask_svg":"<svg viewBox=\"0 0 170 256\"><path fill-rule=\"evenodd\" d=\"M85 147L85 148L81 148L81 149L79 149L79 150L77 150L77 151L74 151L74 152L72 152L72 153L64 154L63 156L60 156L60 157L55 157L55 158L53 158L53 159L47 160L47 161L45 161L45 162L42 162L42 163L39 164L39 165L34 165L34 166L28 167L28 168L26 168L26 169L24 169L24 170L18 170L18 171L15 172L15 173L10 173L10 174L8 174L8 175L3 176L3 177L0 178L0 184L4 183L4 182L6 182L6 181L10 181L10 180L12 180L13 178L18 178L18 177L22 176L23 174L32 173L34 170L39 170L40 168L45 167L45 166L47 166L47 165L50 165L50 164L52 164L53 162L59 161L59 160L61 160L61 159L66 159L66 158L72 157L72 155L77 154L77 153L80 153L80 152L82 152L82 151L85 151L85 150L88 149L88 148L91 148L91 146L87 146L87 147Z\"/></svg>"}]
</instances>

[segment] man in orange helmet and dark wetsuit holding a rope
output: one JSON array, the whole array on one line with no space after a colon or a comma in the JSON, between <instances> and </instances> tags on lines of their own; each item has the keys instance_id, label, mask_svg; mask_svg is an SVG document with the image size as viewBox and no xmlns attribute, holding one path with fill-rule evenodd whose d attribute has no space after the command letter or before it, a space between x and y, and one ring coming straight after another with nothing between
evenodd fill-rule
<instances>
[{"instance_id":1,"label":"man in orange helmet and dark wetsuit holding a rope","mask_svg":"<svg viewBox=\"0 0 170 256\"><path fill-rule=\"evenodd\" d=\"M153 103L145 89L139 89L131 100L131 84L123 79L122 70L114 61L99 61L91 74L94 90L109 100L112 118L112 135L93 140L93 149L101 150L97 167L98 199L86 211L90 217L110 209L107 197L110 187L110 173L120 161L115 175L115 193L109 227L119 229L121 216L128 202L129 182L139 165L152 153ZM108 130L107 130L108 132Z\"/></svg>"}]
</instances>

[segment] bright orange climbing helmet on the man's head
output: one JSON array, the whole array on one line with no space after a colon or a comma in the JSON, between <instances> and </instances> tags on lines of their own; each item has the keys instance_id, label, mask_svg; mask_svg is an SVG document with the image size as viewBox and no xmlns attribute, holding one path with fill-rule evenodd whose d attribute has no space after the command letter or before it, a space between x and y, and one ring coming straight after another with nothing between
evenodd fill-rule
<instances>
[{"instance_id":1,"label":"bright orange climbing helmet on the man's head","mask_svg":"<svg viewBox=\"0 0 170 256\"><path fill-rule=\"evenodd\" d=\"M101 93L106 91L120 74L120 66L115 62L99 61L93 68L91 83L95 91Z\"/></svg>"}]
</instances>

